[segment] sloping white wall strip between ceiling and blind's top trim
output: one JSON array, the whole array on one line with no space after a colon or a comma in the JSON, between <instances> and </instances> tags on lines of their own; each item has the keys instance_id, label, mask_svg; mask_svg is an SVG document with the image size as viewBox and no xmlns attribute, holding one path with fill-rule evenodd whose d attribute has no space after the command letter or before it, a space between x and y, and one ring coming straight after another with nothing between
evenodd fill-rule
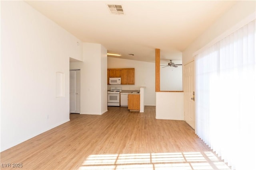
<instances>
[{"instance_id":1,"label":"sloping white wall strip between ceiling and blind's top trim","mask_svg":"<svg viewBox=\"0 0 256 170\"><path fill-rule=\"evenodd\" d=\"M182 53L182 63L188 64L194 60L193 53L207 45L210 41L236 25L239 21L255 12L256 1L240 1L235 4L228 12L210 26L200 37L198 37Z\"/></svg>"}]
</instances>

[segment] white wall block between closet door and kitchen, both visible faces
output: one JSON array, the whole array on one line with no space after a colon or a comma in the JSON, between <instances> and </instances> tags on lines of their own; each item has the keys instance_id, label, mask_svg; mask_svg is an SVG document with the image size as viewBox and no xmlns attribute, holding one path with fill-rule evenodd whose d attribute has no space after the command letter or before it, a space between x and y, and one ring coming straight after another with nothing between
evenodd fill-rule
<instances>
[{"instance_id":1,"label":"white wall block between closet door and kitchen, both visible faces","mask_svg":"<svg viewBox=\"0 0 256 170\"><path fill-rule=\"evenodd\" d=\"M100 44L83 43L84 62L70 63L80 69L81 114L101 115L107 111L107 50Z\"/></svg>"}]
</instances>

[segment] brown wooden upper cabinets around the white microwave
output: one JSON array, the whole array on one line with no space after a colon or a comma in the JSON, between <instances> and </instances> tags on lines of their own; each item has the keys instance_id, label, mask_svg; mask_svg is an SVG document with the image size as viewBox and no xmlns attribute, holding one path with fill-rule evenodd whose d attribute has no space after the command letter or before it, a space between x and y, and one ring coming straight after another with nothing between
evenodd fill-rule
<instances>
[{"instance_id":1,"label":"brown wooden upper cabinets around the white microwave","mask_svg":"<svg viewBox=\"0 0 256 170\"><path fill-rule=\"evenodd\" d=\"M110 77L121 77L121 84L135 84L134 68L108 68L108 84Z\"/></svg>"}]
</instances>

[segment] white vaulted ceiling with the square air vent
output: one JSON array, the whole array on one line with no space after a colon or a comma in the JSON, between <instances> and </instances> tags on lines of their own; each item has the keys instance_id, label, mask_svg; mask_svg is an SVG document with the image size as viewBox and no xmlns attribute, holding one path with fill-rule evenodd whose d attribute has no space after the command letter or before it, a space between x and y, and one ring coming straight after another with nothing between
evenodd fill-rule
<instances>
[{"instance_id":1,"label":"white vaulted ceiling with the square air vent","mask_svg":"<svg viewBox=\"0 0 256 170\"><path fill-rule=\"evenodd\" d=\"M100 43L123 59L181 60L181 52L237 1L26 1L83 42ZM122 5L124 15L107 4ZM128 55L134 54L134 56Z\"/></svg>"}]
</instances>

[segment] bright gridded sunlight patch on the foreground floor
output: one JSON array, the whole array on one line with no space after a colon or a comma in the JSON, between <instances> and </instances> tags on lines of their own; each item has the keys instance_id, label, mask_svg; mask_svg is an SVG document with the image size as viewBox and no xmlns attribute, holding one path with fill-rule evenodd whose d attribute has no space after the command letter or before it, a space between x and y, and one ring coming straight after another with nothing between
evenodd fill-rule
<instances>
[{"instance_id":1,"label":"bright gridded sunlight patch on the foreground floor","mask_svg":"<svg viewBox=\"0 0 256 170\"><path fill-rule=\"evenodd\" d=\"M79 170L230 170L212 152L92 154Z\"/></svg>"}]
</instances>

